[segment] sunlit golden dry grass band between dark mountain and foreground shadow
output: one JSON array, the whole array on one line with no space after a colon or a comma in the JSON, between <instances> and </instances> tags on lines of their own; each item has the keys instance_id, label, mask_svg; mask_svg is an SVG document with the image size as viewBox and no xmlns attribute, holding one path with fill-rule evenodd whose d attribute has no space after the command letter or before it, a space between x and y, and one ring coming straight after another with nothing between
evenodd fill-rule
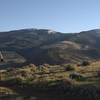
<instances>
[{"instance_id":1,"label":"sunlit golden dry grass band between dark mountain and foreground shadow","mask_svg":"<svg viewBox=\"0 0 100 100\"><path fill-rule=\"evenodd\" d=\"M96 83L100 82L99 77L97 77L97 73L100 72L100 62L93 62L88 66L77 66L76 64L71 64L75 68L75 70L66 71L67 64L64 65L55 65L50 66L48 64L35 66L29 65L23 68L17 68L11 71L1 70L0 73L2 75L2 80L9 80L13 78L20 78L22 80L30 80L32 82L38 80L52 81L52 80L62 80L62 79L70 79L69 75L72 73L82 75L84 77L84 81L76 81L78 84L87 84L87 83ZM72 80L73 81L73 80ZM28 81L31 82L31 81ZM97 84L98 84L97 82Z\"/></svg>"}]
</instances>

